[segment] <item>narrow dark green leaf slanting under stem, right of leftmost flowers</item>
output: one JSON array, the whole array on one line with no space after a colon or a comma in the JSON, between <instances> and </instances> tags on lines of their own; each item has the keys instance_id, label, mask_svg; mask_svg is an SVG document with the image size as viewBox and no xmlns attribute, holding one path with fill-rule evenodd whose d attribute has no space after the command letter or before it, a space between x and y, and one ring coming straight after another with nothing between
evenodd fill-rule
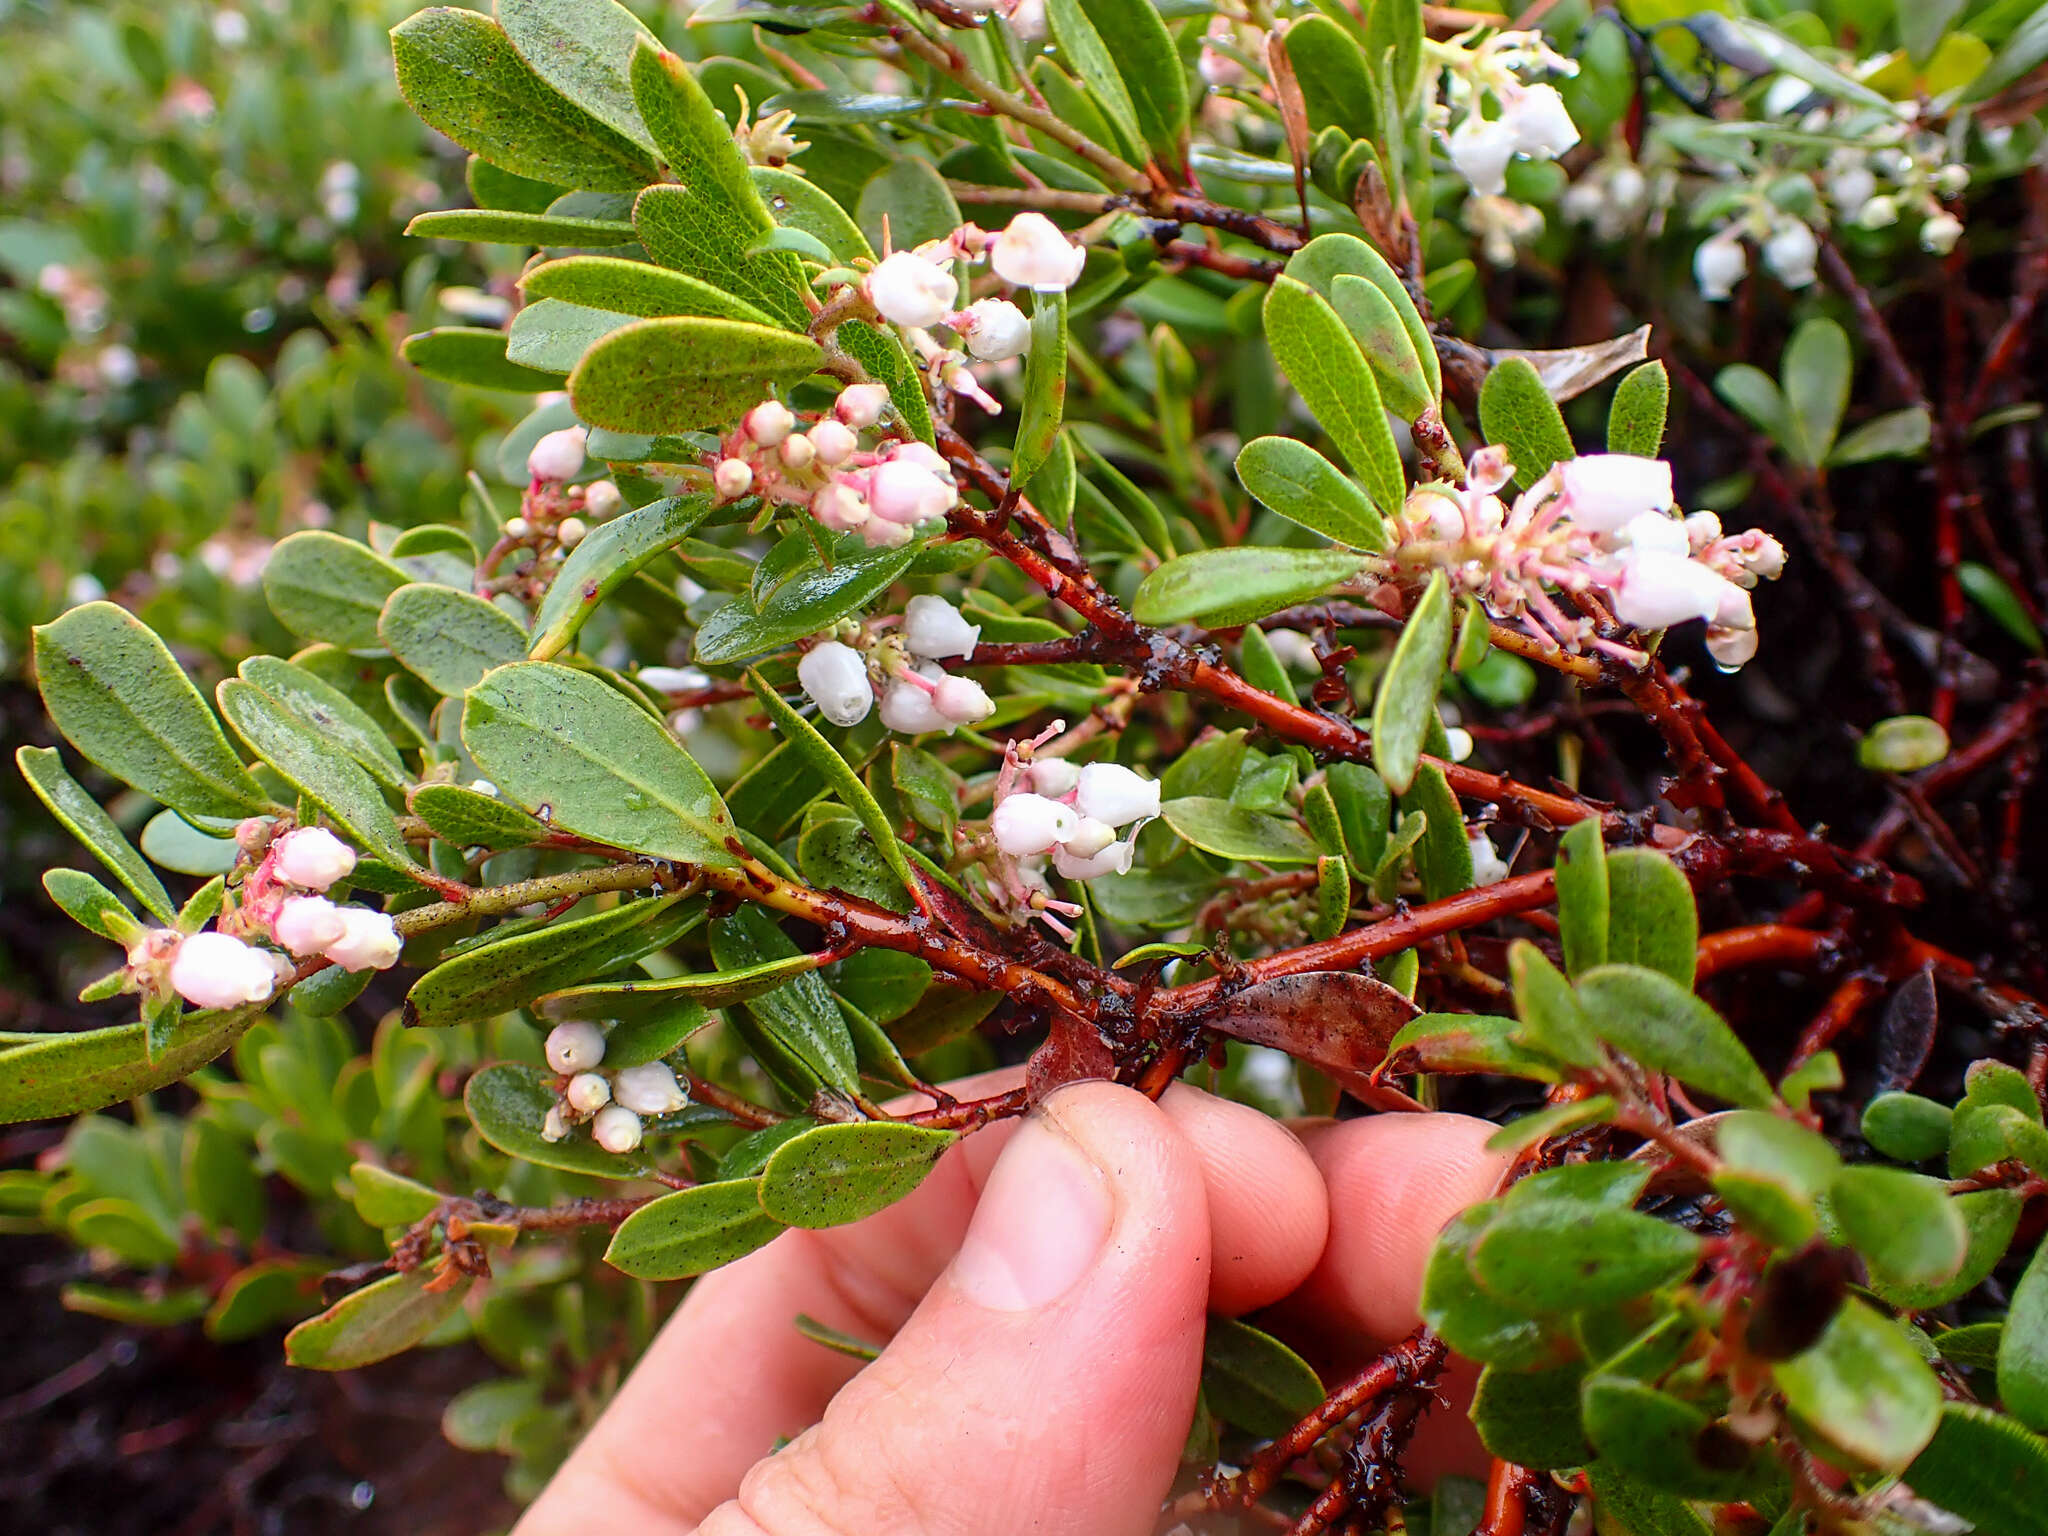
<instances>
[{"instance_id":1,"label":"narrow dark green leaf slanting under stem, right of leftmost flowers","mask_svg":"<svg viewBox=\"0 0 2048 1536\"><path fill-rule=\"evenodd\" d=\"M633 965L672 944L694 915L678 897L625 901L610 911L553 922L463 950L406 993L406 1022L428 1028L481 1024L543 993Z\"/></svg>"}]
</instances>

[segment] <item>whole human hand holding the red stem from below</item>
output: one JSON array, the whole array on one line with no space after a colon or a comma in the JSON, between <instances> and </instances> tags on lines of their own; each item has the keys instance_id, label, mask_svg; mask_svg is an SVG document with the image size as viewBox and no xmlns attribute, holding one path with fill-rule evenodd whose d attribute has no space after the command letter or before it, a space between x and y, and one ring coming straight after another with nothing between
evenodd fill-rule
<instances>
[{"instance_id":1,"label":"whole human hand holding the red stem from below","mask_svg":"<svg viewBox=\"0 0 2048 1536\"><path fill-rule=\"evenodd\" d=\"M1436 1233L1493 1190L1491 1130L1296 1137L1186 1085L1063 1087L889 1210L698 1280L514 1536L1143 1536L1204 1315L1274 1309L1325 1380L1399 1339ZM860 1366L797 1313L889 1346ZM1462 1415L1434 1417L1411 1464L1475 1470Z\"/></svg>"}]
</instances>

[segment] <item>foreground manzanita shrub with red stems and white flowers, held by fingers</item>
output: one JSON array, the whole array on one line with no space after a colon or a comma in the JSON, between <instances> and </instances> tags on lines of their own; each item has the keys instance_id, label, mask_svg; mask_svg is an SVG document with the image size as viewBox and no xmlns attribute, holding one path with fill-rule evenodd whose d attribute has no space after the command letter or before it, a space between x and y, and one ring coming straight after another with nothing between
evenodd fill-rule
<instances>
[{"instance_id":1,"label":"foreground manzanita shrub with red stems and white flowers, held by fingers","mask_svg":"<svg viewBox=\"0 0 2048 1536\"><path fill-rule=\"evenodd\" d=\"M1456 1102L1513 1163L1425 1327L1319 1380L1214 1319L1182 1516L2048 1532L2038 958L1919 936L1884 862L1911 819L2009 881L2028 829L2048 690L1960 637L1974 602L2042 647L2038 508L2007 541L1982 475L2032 496L2048 12L1534 10L715 0L731 51L690 59L612 0L393 29L471 154L475 207L412 233L504 248L520 297L403 356L530 414L457 520L270 549L297 649L211 700L113 602L35 631L57 731L133 791L18 754L104 866L45 877L115 946L82 997L135 1008L0 1049L0 1114L82 1116L0 1176L102 1257L68 1303L295 1323L328 1370L473 1337L508 1374L449 1434L530 1493L651 1282L872 1214L1063 1081ZM1929 391L1858 272L1956 279L1978 209L2009 311L1954 315ZM1628 303L1735 356L1712 383L1651 328L1493 346L1481 266L1624 240L1675 256ZM1751 252L1829 295L1782 358L1700 340L1776 303ZM1843 434L1860 358L1886 410ZM1692 510L1673 379L1749 446ZM1929 467L1939 629L1837 539L1829 471L1880 461ZM1905 809L1860 846L1686 688L1810 639L1759 602L1780 541L1698 504L1751 494L1868 659L1858 758ZM1657 803L1583 786L1585 700L1655 735ZM1554 772L1481 766L1548 733ZM1972 852L1931 797L2013 750ZM1702 934L1731 881L1749 920ZM1835 989L1739 1032L1698 995L1737 971ZM995 1049L1020 1087L934 1085ZM1911 1092L1935 1061L1956 1102ZM279 1245L285 1190L317 1243ZM1493 1479L1401 1507L1450 1352Z\"/></svg>"}]
</instances>

